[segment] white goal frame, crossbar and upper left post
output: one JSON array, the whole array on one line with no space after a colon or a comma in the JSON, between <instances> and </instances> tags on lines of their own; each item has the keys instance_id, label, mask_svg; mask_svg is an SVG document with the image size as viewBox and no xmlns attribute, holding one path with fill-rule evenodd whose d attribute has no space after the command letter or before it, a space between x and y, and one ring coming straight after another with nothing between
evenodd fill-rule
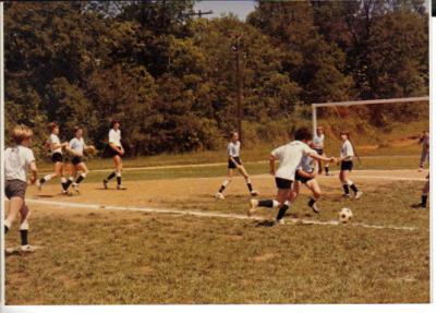
<instances>
[{"instance_id":1,"label":"white goal frame, crossbar and upper left post","mask_svg":"<svg viewBox=\"0 0 436 313\"><path fill-rule=\"evenodd\" d=\"M340 101L340 103L323 103L312 104L312 130L313 134L316 133L317 128L317 109L326 107L351 107L364 105L386 105L386 104L401 104L401 103L419 103L428 101L429 97L410 97L410 98L391 98L391 99L374 99L374 100L358 100L358 101Z\"/></svg>"}]
</instances>

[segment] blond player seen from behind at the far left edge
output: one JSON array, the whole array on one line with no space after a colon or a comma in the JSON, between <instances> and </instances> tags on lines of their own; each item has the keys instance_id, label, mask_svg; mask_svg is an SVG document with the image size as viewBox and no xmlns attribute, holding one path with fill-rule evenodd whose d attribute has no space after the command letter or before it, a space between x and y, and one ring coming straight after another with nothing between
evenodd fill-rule
<instances>
[{"instance_id":1,"label":"blond player seen from behind at the far left edge","mask_svg":"<svg viewBox=\"0 0 436 313\"><path fill-rule=\"evenodd\" d=\"M32 143L32 136L33 132L29 128L25 125L15 127L12 132L15 145L7 148L4 152L4 193L9 198L9 213L4 220L4 234L11 229L12 224L20 214L22 251L32 251L32 248L28 245L29 209L25 204L27 171L32 172L32 184L37 180L35 156L32 149L28 148Z\"/></svg>"}]
</instances>

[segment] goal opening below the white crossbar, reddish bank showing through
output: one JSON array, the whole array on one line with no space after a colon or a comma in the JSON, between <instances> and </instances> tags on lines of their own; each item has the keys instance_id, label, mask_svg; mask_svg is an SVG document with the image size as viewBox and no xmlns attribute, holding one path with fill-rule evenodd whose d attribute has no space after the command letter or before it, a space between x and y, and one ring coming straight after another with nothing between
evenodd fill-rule
<instances>
[{"instance_id":1,"label":"goal opening below the white crossbar, reddish bank showing through","mask_svg":"<svg viewBox=\"0 0 436 313\"><path fill-rule=\"evenodd\" d=\"M429 131L429 98L392 98L312 105L315 133L323 127L327 154L338 155L340 131L349 131L359 156L415 156Z\"/></svg>"}]
</instances>

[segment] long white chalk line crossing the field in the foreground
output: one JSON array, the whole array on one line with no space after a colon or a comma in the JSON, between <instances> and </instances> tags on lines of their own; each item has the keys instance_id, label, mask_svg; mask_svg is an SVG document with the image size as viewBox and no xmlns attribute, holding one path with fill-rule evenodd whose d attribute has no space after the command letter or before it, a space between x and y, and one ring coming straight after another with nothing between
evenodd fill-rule
<instances>
[{"instance_id":1,"label":"long white chalk line crossing the field in the foreground","mask_svg":"<svg viewBox=\"0 0 436 313\"><path fill-rule=\"evenodd\" d=\"M110 209L110 210L132 210L132 212L146 212L146 213L158 213L158 214L180 214L180 215L191 215L198 217L218 217L218 218L232 218L232 219L251 219L251 220L265 220L265 217L253 216L249 217L246 215L230 214L230 213L218 213L218 212L199 212L199 210L181 210L171 208L157 208L157 207L137 207L137 206L113 206L113 205L98 205L98 204L85 204L85 203L68 203L59 201L46 201L46 200L26 200L28 203L56 205L61 208L90 208L90 209ZM341 225L338 220L319 221L312 219L300 219L300 218L286 218L286 224L296 224L296 225ZM360 226L365 228L374 229L393 229L393 230L416 230L416 227L409 226L391 226L391 225L368 225L364 222L351 222L350 226Z\"/></svg>"}]
</instances>

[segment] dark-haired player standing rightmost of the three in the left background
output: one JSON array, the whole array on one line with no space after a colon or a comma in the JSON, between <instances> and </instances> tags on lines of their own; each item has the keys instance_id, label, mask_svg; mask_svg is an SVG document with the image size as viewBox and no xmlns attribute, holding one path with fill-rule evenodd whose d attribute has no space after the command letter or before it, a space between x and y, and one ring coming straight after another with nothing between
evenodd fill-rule
<instances>
[{"instance_id":1,"label":"dark-haired player standing rightmost of the three in the left background","mask_svg":"<svg viewBox=\"0 0 436 313\"><path fill-rule=\"evenodd\" d=\"M117 177L117 189L125 190L121 184L121 172L122 172L122 159L121 156L124 155L124 148L121 144L121 130L120 122L112 121L112 128L109 131L109 149L113 158L114 170L106 179L102 180L105 189L108 189L108 182Z\"/></svg>"}]
</instances>

